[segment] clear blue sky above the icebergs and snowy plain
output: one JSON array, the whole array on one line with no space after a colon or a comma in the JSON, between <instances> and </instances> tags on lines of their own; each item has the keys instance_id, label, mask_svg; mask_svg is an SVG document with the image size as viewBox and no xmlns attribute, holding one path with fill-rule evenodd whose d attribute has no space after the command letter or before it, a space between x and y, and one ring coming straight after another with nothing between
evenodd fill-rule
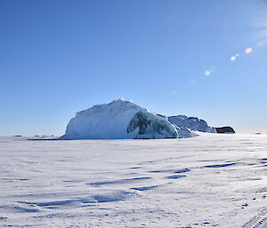
<instances>
[{"instance_id":1,"label":"clear blue sky above the icebergs and snowy plain","mask_svg":"<svg viewBox=\"0 0 267 228\"><path fill-rule=\"evenodd\" d=\"M0 29L0 135L116 98L267 132L264 0L1 0Z\"/></svg>"}]
</instances>

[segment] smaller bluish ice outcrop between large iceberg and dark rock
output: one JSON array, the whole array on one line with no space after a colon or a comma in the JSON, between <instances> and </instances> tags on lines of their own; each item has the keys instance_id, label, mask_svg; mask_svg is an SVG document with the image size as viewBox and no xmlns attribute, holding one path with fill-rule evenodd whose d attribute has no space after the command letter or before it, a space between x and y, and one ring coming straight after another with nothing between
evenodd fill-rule
<instances>
[{"instance_id":1,"label":"smaller bluish ice outcrop between large iceberg and dark rock","mask_svg":"<svg viewBox=\"0 0 267 228\"><path fill-rule=\"evenodd\" d=\"M182 128L190 128L202 132L216 133L216 129L209 127L206 121L198 117L187 117L186 115L169 116L168 121Z\"/></svg>"}]
</instances>

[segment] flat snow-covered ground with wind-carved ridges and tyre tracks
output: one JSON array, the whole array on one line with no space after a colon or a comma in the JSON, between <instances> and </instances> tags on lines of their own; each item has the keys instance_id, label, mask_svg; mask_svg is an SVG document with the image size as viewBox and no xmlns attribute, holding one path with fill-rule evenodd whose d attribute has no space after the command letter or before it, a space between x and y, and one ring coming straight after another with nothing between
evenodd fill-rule
<instances>
[{"instance_id":1,"label":"flat snow-covered ground with wind-carved ridges and tyre tracks","mask_svg":"<svg viewBox=\"0 0 267 228\"><path fill-rule=\"evenodd\" d=\"M0 138L0 227L266 227L267 136Z\"/></svg>"}]
</instances>

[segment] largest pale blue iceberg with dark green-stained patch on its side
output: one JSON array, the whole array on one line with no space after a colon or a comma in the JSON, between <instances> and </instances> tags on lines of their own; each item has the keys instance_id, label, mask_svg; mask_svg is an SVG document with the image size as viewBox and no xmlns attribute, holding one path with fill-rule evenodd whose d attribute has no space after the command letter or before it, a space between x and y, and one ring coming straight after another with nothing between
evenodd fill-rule
<instances>
[{"instance_id":1,"label":"largest pale blue iceberg with dark green-stained patch on its side","mask_svg":"<svg viewBox=\"0 0 267 228\"><path fill-rule=\"evenodd\" d=\"M117 99L78 112L60 139L190 138L197 136L130 100Z\"/></svg>"}]
</instances>

